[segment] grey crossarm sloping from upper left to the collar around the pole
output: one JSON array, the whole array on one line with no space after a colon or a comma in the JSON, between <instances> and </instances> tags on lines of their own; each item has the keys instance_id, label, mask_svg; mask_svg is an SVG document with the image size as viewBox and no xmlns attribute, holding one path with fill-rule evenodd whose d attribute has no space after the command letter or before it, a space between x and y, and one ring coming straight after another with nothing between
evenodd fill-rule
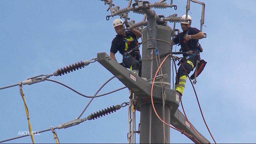
<instances>
[{"instance_id":1,"label":"grey crossarm sloping from upper left to the collar around the pole","mask_svg":"<svg viewBox=\"0 0 256 144\"><path fill-rule=\"evenodd\" d=\"M106 53L97 54L98 62L108 69L113 75L116 76L125 86L127 86L135 95L140 95L141 97L151 97L151 83L148 83L146 80L132 73L125 67L121 66L117 61L111 59ZM162 99L162 96L159 95L161 91L161 86L154 85L153 88L153 98ZM173 106L172 114L177 110L179 106L179 101L176 100L176 91L165 88L166 92L166 103L170 102Z\"/></svg>"}]
</instances>

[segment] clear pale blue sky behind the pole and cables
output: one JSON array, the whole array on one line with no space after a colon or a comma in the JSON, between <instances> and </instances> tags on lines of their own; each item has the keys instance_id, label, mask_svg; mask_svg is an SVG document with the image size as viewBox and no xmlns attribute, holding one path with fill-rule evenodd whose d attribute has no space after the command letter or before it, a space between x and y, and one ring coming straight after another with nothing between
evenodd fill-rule
<instances>
[{"instance_id":1,"label":"clear pale blue sky behind the pole and cables","mask_svg":"<svg viewBox=\"0 0 256 144\"><path fill-rule=\"evenodd\" d=\"M256 1L206 1L207 38L199 40L207 65L195 85L202 112L217 143L256 143ZM150 0L151 3L157 2ZM170 3L170 1L166 1ZM126 7L128 1L114 0ZM154 9L158 15L186 12L186 0L174 0L174 8ZM102 1L0 1L0 87L17 84L40 74L52 74L58 68L90 60L97 53L110 53L116 33L106 20L108 5ZM200 29L201 5L190 2L191 26ZM135 22L143 15L129 13ZM173 23L168 24L173 27ZM181 30L179 24L176 28ZM142 48L142 47L141 47ZM176 50L179 50L177 46ZM175 50L175 46L174 46ZM142 50L141 50L142 51ZM121 62L121 55L116 54ZM113 75L98 62L63 76L52 76L82 94L92 96ZM100 92L123 87L114 78ZM24 85L26 104L33 131L57 127L79 116L89 98L51 81ZM98 110L129 101L128 89L95 98L82 118ZM182 97L191 124L211 143L207 128L189 81ZM0 141L28 131L23 101L18 86L0 90ZM56 130L61 143L127 143L128 108L85 121L77 126ZM181 107L179 107L180 110ZM136 112L136 129L140 120ZM52 132L34 136L36 143L55 143ZM139 135L136 134L136 143ZM193 143L170 129L171 143ZM24 137L6 143L31 143Z\"/></svg>"}]
</instances>

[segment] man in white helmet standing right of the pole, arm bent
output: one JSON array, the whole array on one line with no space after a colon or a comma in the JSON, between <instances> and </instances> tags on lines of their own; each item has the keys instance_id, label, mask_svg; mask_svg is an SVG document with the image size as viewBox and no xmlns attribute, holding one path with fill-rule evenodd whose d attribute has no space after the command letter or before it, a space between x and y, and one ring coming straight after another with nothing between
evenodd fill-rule
<instances>
[{"instance_id":1,"label":"man in white helmet standing right of the pole, arm bent","mask_svg":"<svg viewBox=\"0 0 256 144\"><path fill-rule=\"evenodd\" d=\"M183 15L182 18L186 18ZM181 46L180 52L193 51L193 54L183 54L181 63L189 74L196 66L196 61L200 60L199 53L202 52L198 39L204 38L204 34L197 28L190 27L192 18L187 15L187 21L180 22L183 32L179 33L173 39L173 45L179 44ZM176 75L175 90L182 96L186 84L187 76L182 66L179 67Z\"/></svg>"}]
</instances>

